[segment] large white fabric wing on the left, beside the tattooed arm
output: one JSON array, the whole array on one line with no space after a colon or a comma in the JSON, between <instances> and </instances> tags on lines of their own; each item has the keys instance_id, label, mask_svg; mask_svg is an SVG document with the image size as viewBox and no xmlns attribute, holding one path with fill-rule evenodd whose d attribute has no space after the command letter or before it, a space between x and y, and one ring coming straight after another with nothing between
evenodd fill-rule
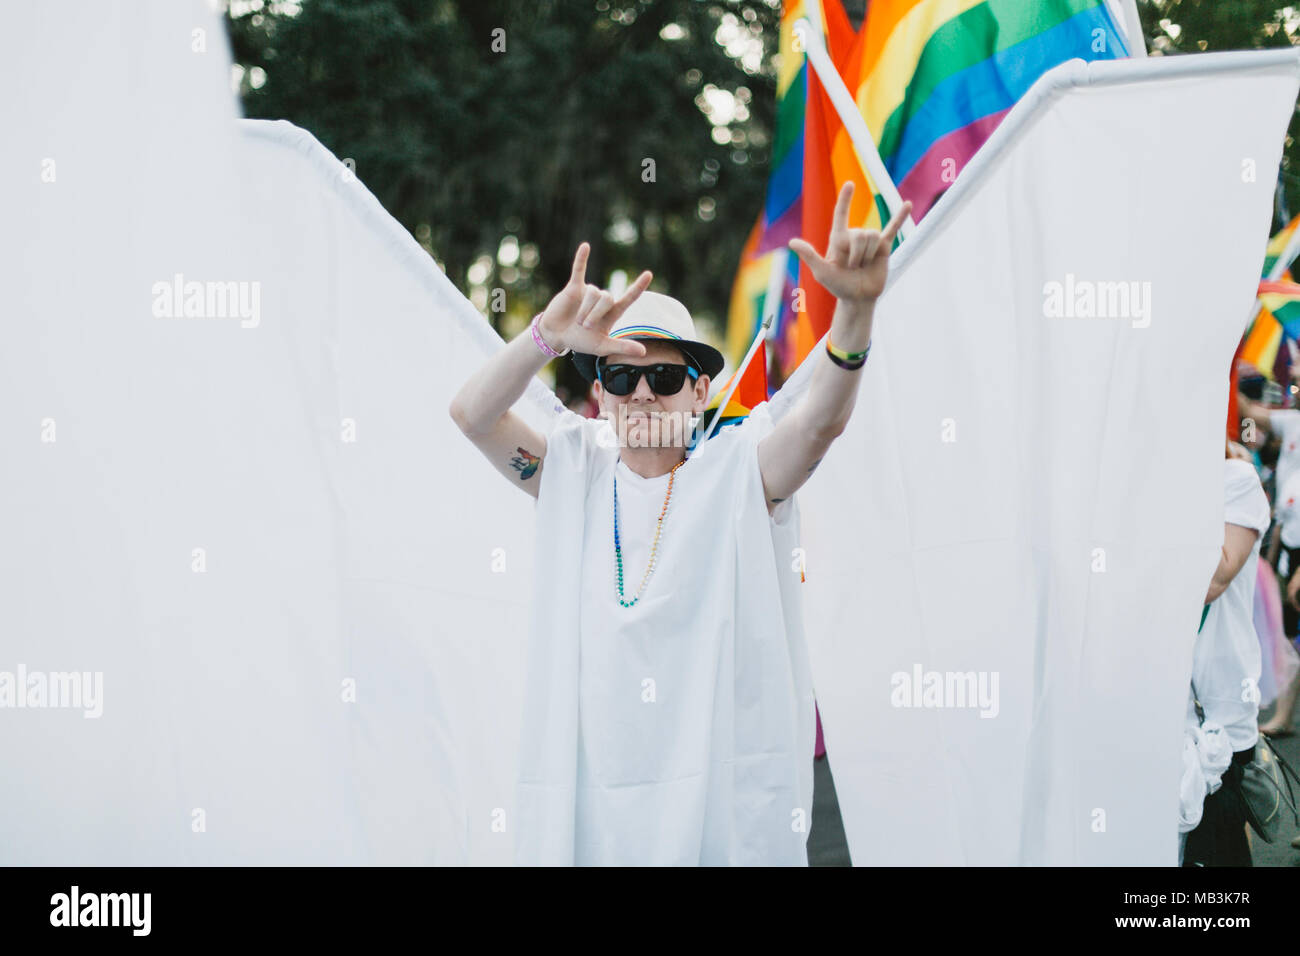
<instances>
[{"instance_id":1,"label":"large white fabric wing on the left, beside the tattooed arm","mask_svg":"<svg viewBox=\"0 0 1300 956\"><path fill-rule=\"evenodd\" d=\"M0 683L101 682L0 711L0 856L510 861L533 503L447 411L500 339L309 134L235 120L222 38L0 31Z\"/></svg>"}]
</instances>

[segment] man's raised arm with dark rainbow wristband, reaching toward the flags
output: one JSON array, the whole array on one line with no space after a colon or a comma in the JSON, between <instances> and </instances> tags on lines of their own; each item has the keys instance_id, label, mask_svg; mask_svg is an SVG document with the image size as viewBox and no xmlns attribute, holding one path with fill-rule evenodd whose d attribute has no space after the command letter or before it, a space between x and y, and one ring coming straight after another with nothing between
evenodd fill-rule
<instances>
[{"instance_id":1,"label":"man's raised arm with dark rainbow wristband, reaching toward the flags","mask_svg":"<svg viewBox=\"0 0 1300 956\"><path fill-rule=\"evenodd\" d=\"M861 352L871 342L876 299L889 274L889 248L911 203L904 203L883 232L849 229L853 183L840 190L831 224L826 258L803 239L790 239L790 248L812 276L836 298L829 341L846 352ZM768 514L797 492L831 442L844 432L858 397L862 369L840 368L826 349L819 349L807 392L758 445L758 467Z\"/></svg>"}]
</instances>

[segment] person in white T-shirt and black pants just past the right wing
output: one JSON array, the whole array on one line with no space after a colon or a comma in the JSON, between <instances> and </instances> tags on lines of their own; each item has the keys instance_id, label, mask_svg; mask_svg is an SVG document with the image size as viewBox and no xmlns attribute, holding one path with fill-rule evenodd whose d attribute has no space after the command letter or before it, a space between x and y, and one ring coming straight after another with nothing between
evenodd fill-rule
<instances>
[{"instance_id":1,"label":"person in white T-shirt and black pants just past the right wing","mask_svg":"<svg viewBox=\"0 0 1300 956\"><path fill-rule=\"evenodd\" d=\"M1232 455L1234 451L1238 454ZM1228 446L1223 462L1223 546L1205 593L1205 617L1192 650L1188 735L1226 739L1231 762L1206 767L1200 823L1187 834L1184 866L1249 866L1242 774L1254 757L1260 714L1260 641L1254 633L1254 578L1260 540L1269 527L1269 499L1244 449ZM1204 714L1196 713L1200 704ZM1200 735L1197 731L1202 731ZM1204 760L1204 756L1202 756ZM1227 761L1227 754L1223 754ZM1222 783L1218 774L1222 774ZM1195 797L1195 793L1191 795ZM1184 808L1195 819L1195 808Z\"/></svg>"}]
</instances>

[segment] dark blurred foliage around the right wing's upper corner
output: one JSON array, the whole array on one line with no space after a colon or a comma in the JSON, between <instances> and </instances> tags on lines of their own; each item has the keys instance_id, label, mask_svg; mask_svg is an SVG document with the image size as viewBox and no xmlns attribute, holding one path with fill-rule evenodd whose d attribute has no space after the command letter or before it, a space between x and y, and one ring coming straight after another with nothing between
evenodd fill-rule
<instances>
[{"instance_id":1,"label":"dark blurred foliage around the right wing's upper corner","mask_svg":"<svg viewBox=\"0 0 1300 956\"><path fill-rule=\"evenodd\" d=\"M1153 55L1290 47L1300 12L1278 0L1138 0L1147 48ZM1292 113L1282 155L1286 208L1300 212L1300 111ZM1261 174L1269 173L1261 170ZM1277 224L1280 225L1280 224Z\"/></svg>"}]
</instances>

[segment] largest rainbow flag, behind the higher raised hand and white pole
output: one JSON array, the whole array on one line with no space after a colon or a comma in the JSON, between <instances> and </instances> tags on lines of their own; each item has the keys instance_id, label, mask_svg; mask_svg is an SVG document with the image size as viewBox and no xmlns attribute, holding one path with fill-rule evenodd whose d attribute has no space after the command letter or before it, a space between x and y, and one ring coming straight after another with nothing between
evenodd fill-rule
<instances>
[{"instance_id":1,"label":"largest rainbow flag, behind the higher raised hand and white pole","mask_svg":"<svg viewBox=\"0 0 1300 956\"><path fill-rule=\"evenodd\" d=\"M1008 111L1066 60L1128 56L1104 0L871 0L854 46L832 57L898 186L922 219ZM826 241L840 187L857 185L850 222L880 229L889 211L863 173L815 75L805 118L803 238ZM831 328L835 298L805 269L793 368Z\"/></svg>"}]
</instances>

